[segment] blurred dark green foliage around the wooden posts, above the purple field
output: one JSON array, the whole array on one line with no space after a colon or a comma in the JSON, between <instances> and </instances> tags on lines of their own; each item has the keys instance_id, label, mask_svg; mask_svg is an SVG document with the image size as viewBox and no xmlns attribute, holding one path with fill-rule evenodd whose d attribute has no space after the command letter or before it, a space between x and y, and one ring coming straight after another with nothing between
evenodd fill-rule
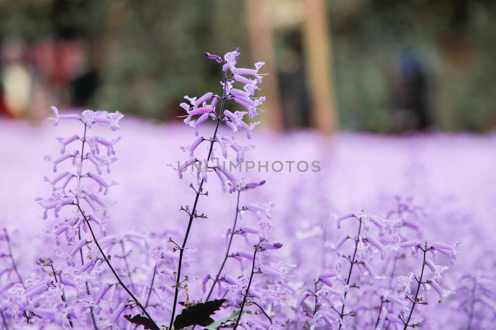
<instances>
[{"instance_id":1,"label":"blurred dark green foliage around the wooden posts, above the purple field","mask_svg":"<svg viewBox=\"0 0 496 330\"><path fill-rule=\"evenodd\" d=\"M326 3L342 128L391 131L394 109L401 107L397 98L405 49L415 52L427 77L431 123L442 130L496 126L494 1ZM245 1L229 0L4 0L0 38L19 37L27 43L81 38L90 49L89 65L99 74L88 106L167 120L180 114L177 105L183 95L202 94L220 80L215 63L201 57L203 51L223 55L239 46L249 53L244 7ZM287 38L301 38L299 30L298 25L274 28L276 62L288 58L282 56L288 48L301 47L301 41ZM249 56L241 60L251 63ZM300 83L281 83L283 99L305 99ZM304 118L299 121L306 124Z\"/></svg>"}]
</instances>

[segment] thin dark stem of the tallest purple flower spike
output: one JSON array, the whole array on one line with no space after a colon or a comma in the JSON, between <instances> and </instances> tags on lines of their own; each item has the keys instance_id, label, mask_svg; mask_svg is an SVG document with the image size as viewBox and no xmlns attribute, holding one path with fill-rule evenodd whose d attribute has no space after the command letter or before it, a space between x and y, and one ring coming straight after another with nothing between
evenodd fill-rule
<instances>
[{"instance_id":1,"label":"thin dark stem of the tallest purple flower spike","mask_svg":"<svg viewBox=\"0 0 496 330\"><path fill-rule=\"evenodd\" d=\"M217 130L219 129L219 124L221 122L220 118L222 117L224 113L224 103L226 100L226 88L227 88L227 77L226 74L223 72L223 77L224 77L224 89L223 89L223 94L222 94L222 101L220 105L220 112L219 116L217 117L217 124L215 125L215 131L213 134L212 139L210 139L210 149L208 150L208 157L207 157L207 162L210 160L210 156L212 155L212 150L214 146L214 141L215 141L215 136L217 135ZM198 187L198 190L196 191L196 197L194 199L194 204L193 208L191 210L191 213L189 214L189 222L187 225L186 229L186 235L183 240L183 245L181 245L181 248L179 249L179 264L178 264L178 271L176 275L176 293L174 294L174 304L172 305L172 315L171 315L171 324L169 325L169 330L172 330L172 325L174 324L174 316L176 315L176 305L178 303L178 295L179 295L179 287L181 286L181 267L183 265L183 254L184 250L186 247L186 242L187 242L187 237L189 236L189 231L191 230L191 224L193 223L193 218L195 216L196 212L196 205L198 204L198 197L200 197L201 194L201 188L203 187L203 179L201 180L200 186Z\"/></svg>"}]
</instances>

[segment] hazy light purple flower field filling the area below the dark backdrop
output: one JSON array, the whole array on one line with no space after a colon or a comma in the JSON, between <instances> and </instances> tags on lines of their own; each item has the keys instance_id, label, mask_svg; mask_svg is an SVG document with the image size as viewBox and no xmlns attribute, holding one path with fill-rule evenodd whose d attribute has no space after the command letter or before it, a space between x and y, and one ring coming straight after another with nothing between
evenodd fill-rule
<instances>
[{"instance_id":1,"label":"hazy light purple flower field filling the area below the dark backdrop","mask_svg":"<svg viewBox=\"0 0 496 330\"><path fill-rule=\"evenodd\" d=\"M86 179L83 189L99 197L85 198L90 202L81 201L81 207L99 214L101 219L92 222L93 231L111 255L115 271L141 305L146 302L156 325L165 329L170 324L179 260L174 242L181 245L189 218L179 209L193 205L195 191L189 184L198 189L196 172L195 177L184 173L180 180L165 165L184 162L187 153L179 146L189 145L195 137L185 125L127 117L121 124L118 132L96 123L91 128L91 135L108 141L122 137L115 144L119 161L110 165L110 174L103 167L102 175L106 182L115 180L119 185L103 195L94 180ZM210 137L214 128L205 123L199 136ZM43 220L44 208L35 202L53 192L44 176L52 181L74 168L67 160L54 174L53 164L43 159L60 156L55 137L81 135L83 129L80 122L71 120L61 120L58 127L48 120L40 126L0 122L1 227L6 230L0 241L4 329L135 329L123 316L143 315L102 260L85 222L77 220L77 208L67 205L58 218L49 212ZM221 128L223 135L230 132ZM235 141L248 143L243 134ZM406 329L401 316L405 320L412 310L409 297L416 291L422 300L417 300L409 318L411 325L494 328L494 135L338 133L323 137L311 131L278 135L257 128L249 143L256 144L256 149L246 152L245 162L319 161L321 170L289 172L285 166L281 172L269 167L267 173L255 168L244 174L252 183L266 183L255 189L243 188L247 183L242 183L238 189L242 190L241 211L230 257L209 297L226 299L220 311L211 315L225 324L214 323L208 329L232 328L243 300L247 301L239 326L245 329ZM77 150L81 142L69 146L66 152ZM197 149L198 153L206 150L206 145L204 150ZM221 147L214 146L214 154L222 157L221 153ZM102 146L100 155L106 157ZM83 172L97 171L93 163L86 163ZM199 196L197 212L208 218L192 221L178 301L207 300L238 213L238 190L223 193L215 172L208 173L203 189L208 197ZM91 211L93 207L100 211ZM98 221L107 222L105 229L102 223L102 230L98 229ZM344 243L343 235L349 237ZM79 244L80 237L87 240L84 245ZM169 242L170 237L174 242ZM260 248L265 242L266 248ZM254 245L259 248L255 259ZM426 253L429 261L423 263ZM424 280L418 284L423 265ZM247 289L252 266L254 279ZM183 308L178 305L176 315ZM175 329L179 329L176 324Z\"/></svg>"}]
</instances>

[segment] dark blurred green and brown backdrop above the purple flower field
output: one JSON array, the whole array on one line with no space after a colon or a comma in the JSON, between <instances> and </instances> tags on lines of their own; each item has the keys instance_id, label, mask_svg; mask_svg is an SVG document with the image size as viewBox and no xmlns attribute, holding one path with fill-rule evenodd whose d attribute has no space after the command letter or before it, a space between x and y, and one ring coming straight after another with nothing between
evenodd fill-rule
<instances>
[{"instance_id":1,"label":"dark blurred green and brown backdrop above the purple flower field","mask_svg":"<svg viewBox=\"0 0 496 330\"><path fill-rule=\"evenodd\" d=\"M0 1L0 109L177 120L183 95L219 80L197 55L239 46L271 73L269 129L487 132L495 12L488 0Z\"/></svg>"}]
</instances>

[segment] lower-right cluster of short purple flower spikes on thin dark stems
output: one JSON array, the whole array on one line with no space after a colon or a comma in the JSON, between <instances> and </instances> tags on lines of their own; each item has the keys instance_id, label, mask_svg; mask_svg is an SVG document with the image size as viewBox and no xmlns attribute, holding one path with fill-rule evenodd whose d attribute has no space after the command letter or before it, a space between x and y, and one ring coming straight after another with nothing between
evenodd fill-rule
<instances>
[{"instance_id":1,"label":"lower-right cluster of short purple flower spikes on thin dark stems","mask_svg":"<svg viewBox=\"0 0 496 330\"><path fill-rule=\"evenodd\" d=\"M438 256L448 256L454 265L461 241L453 245L421 241L412 215L416 215L416 208L403 202L398 202L398 211L386 218L364 211L331 214L338 230L341 222L351 220L358 222L358 229L356 234L326 243L336 252L335 268L319 274L313 287L295 304L309 318L305 320L308 328L420 327L424 318L414 314L415 308L428 305L433 291L439 303L454 293L441 287L441 273L448 267L440 264L445 258ZM346 245L348 241L351 246ZM306 303L309 300L310 305Z\"/></svg>"}]
</instances>

